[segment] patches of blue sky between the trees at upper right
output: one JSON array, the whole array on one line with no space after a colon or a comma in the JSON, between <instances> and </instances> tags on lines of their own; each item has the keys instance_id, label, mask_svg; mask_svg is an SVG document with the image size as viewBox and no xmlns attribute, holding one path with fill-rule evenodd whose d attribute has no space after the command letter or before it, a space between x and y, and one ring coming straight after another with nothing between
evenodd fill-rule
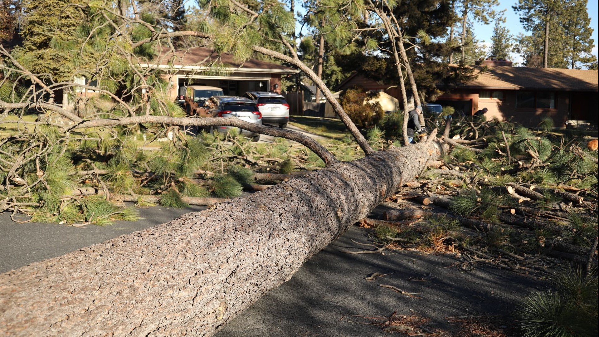
<instances>
[{"instance_id":1,"label":"patches of blue sky between the trees at upper right","mask_svg":"<svg viewBox=\"0 0 599 337\"><path fill-rule=\"evenodd\" d=\"M512 9L513 5L518 4L518 0L504 0L500 1L500 5L497 7L497 10L506 10L506 23L504 26L510 30L510 34L514 36L518 36L519 33L524 33L524 28L520 23L519 15ZM586 6L588 9L589 17L591 18L591 28L593 29L592 38L595 40L595 47L593 49L593 55L597 56L597 0L590 0ZM491 35L493 35L493 27L495 23L491 23L489 25L483 25L481 23L475 23L473 25L473 32L476 34L476 38L480 41L485 41L487 44L491 44ZM521 61L521 59L516 58L516 62Z\"/></svg>"}]
</instances>

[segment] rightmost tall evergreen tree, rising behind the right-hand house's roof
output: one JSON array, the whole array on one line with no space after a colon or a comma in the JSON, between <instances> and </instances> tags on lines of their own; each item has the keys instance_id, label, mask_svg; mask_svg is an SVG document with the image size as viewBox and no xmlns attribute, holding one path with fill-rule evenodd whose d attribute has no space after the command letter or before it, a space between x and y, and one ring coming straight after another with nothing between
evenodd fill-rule
<instances>
[{"instance_id":1,"label":"rightmost tall evergreen tree, rising behind the right-hand house's roof","mask_svg":"<svg viewBox=\"0 0 599 337\"><path fill-rule=\"evenodd\" d=\"M591 55L595 40L591 38L593 29L586 8L587 0L571 0L565 7L562 22L564 29L563 56L571 69L589 68L597 64L597 57Z\"/></svg>"}]
</instances>

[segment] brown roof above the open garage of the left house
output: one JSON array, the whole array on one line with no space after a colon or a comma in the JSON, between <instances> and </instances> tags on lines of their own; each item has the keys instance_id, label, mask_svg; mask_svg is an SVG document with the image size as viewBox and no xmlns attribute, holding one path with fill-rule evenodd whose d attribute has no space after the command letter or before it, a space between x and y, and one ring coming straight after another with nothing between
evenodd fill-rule
<instances>
[{"instance_id":1,"label":"brown roof above the open garage of the left house","mask_svg":"<svg viewBox=\"0 0 599 337\"><path fill-rule=\"evenodd\" d=\"M205 47L192 47L186 50L164 49L159 53L158 67L160 68L179 68L181 70L207 70L207 66L213 62L219 61L225 65L226 70L236 71L240 73L284 73L295 74L298 70L285 67L285 65L274 64L271 62L260 61L257 59L247 59L246 62L240 64L235 61L232 54L222 53L218 55L213 49ZM155 64L147 64L147 67Z\"/></svg>"}]
</instances>

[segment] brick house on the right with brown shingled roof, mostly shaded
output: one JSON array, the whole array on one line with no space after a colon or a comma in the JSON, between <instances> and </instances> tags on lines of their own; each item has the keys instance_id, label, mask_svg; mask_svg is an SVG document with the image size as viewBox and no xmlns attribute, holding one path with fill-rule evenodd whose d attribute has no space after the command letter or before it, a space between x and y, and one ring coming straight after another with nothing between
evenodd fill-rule
<instances>
[{"instance_id":1,"label":"brick house on the right with brown shingled roof, mostly shaded","mask_svg":"<svg viewBox=\"0 0 599 337\"><path fill-rule=\"evenodd\" d=\"M555 127L565 127L568 120L597 124L597 70L512 67L512 62L495 60L480 65L487 68L476 80L435 103L470 115L487 108L486 118L512 119L528 127L546 116Z\"/></svg>"}]
</instances>

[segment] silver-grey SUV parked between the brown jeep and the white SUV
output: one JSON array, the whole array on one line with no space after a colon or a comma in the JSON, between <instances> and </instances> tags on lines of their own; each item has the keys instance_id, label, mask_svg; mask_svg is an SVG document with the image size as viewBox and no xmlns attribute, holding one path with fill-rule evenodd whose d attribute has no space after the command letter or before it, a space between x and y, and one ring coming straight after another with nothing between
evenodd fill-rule
<instances>
[{"instance_id":1,"label":"silver-grey SUV parked between the brown jeep and the white SUV","mask_svg":"<svg viewBox=\"0 0 599 337\"><path fill-rule=\"evenodd\" d=\"M213 96L208 98L202 106L210 117L237 117L242 121L262 125L262 113L259 112L256 103L243 97L235 96ZM226 133L235 127L212 127L212 131ZM241 129L241 134L250 137L252 142L260 140L260 134Z\"/></svg>"}]
</instances>

